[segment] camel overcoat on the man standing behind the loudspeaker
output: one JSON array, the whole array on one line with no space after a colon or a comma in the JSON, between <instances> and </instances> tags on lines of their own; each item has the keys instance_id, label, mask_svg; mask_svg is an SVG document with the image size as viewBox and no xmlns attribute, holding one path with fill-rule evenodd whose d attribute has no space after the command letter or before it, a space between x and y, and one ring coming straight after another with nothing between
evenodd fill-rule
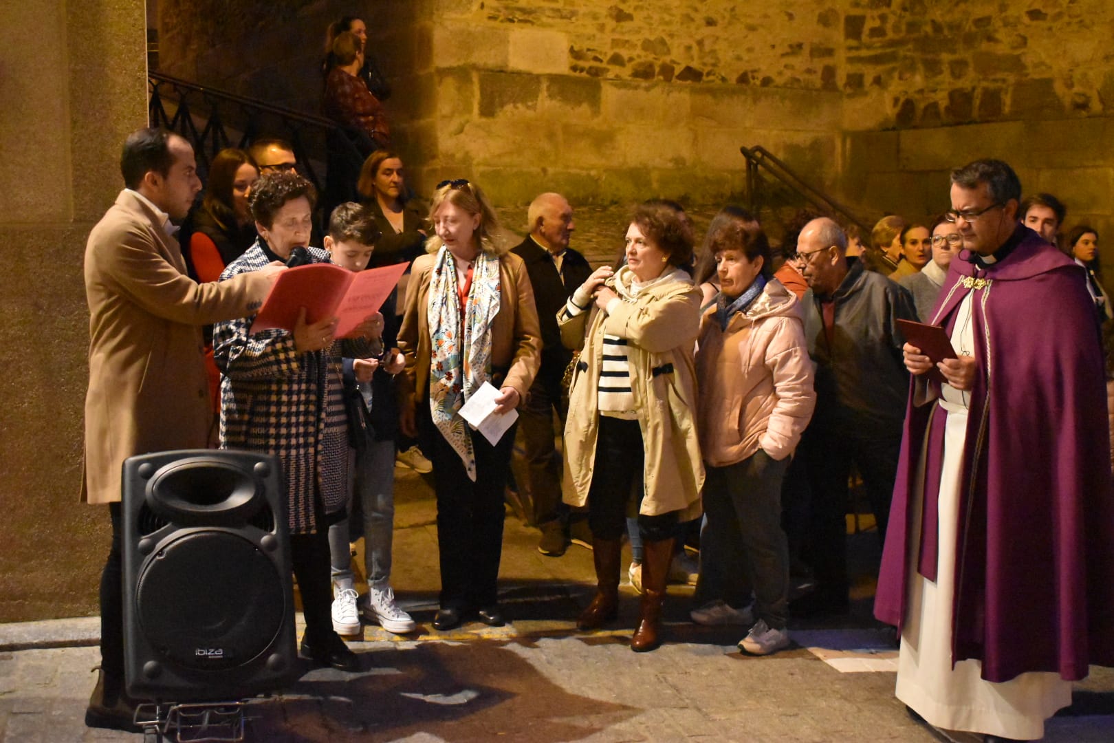
<instances>
[{"instance_id":1,"label":"camel overcoat on the man standing behind the loudspeaker","mask_svg":"<svg viewBox=\"0 0 1114 743\"><path fill-rule=\"evenodd\" d=\"M268 289L260 274L196 283L156 213L134 192L120 192L85 250L82 500L119 501L120 467L133 454L209 446L202 326L254 312Z\"/></svg>"}]
</instances>

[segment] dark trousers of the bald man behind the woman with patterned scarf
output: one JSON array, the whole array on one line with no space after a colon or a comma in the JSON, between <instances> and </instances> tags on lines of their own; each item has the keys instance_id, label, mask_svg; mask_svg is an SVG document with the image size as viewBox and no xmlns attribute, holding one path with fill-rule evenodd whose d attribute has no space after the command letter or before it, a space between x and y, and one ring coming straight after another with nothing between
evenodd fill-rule
<instances>
[{"instance_id":1,"label":"dark trousers of the bald man behind the woman with patterned scarf","mask_svg":"<svg viewBox=\"0 0 1114 743\"><path fill-rule=\"evenodd\" d=\"M568 408L561 401L560 378L539 373L518 413L518 443L511 462L518 495L534 526L568 521L561 502L561 466L554 443L554 412L564 424Z\"/></svg>"}]
</instances>

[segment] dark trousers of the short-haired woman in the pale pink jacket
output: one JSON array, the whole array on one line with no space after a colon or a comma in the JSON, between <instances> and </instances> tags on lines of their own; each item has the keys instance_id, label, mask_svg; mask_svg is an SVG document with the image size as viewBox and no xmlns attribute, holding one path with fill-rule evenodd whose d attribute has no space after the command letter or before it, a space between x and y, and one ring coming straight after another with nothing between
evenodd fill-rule
<instances>
[{"instance_id":1,"label":"dark trousers of the short-haired woman in the pale pink jacket","mask_svg":"<svg viewBox=\"0 0 1114 743\"><path fill-rule=\"evenodd\" d=\"M753 589L756 618L784 629L789 610L789 546L781 528L781 485L789 458L761 449L741 462L709 467L704 528L694 603L715 598L740 608Z\"/></svg>"}]
</instances>

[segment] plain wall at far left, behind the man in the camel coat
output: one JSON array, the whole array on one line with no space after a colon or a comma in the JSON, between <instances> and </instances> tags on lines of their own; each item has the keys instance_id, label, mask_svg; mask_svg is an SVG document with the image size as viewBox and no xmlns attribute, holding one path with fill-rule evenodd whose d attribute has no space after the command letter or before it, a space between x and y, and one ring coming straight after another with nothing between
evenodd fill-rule
<instances>
[{"instance_id":1,"label":"plain wall at far left, behind the man in the camel coat","mask_svg":"<svg viewBox=\"0 0 1114 743\"><path fill-rule=\"evenodd\" d=\"M96 614L108 509L78 502L81 265L147 121L143 0L0 3L0 622ZM42 33L42 29L51 29Z\"/></svg>"}]
</instances>

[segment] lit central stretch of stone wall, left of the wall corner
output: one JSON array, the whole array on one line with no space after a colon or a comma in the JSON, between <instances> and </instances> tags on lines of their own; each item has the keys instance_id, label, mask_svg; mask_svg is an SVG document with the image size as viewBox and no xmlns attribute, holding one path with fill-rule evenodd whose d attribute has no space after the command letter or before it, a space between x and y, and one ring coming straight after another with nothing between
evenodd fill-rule
<instances>
[{"instance_id":1,"label":"lit central stretch of stone wall, left of the wall corner","mask_svg":"<svg viewBox=\"0 0 1114 743\"><path fill-rule=\"evenodd\" d=\"M498 204L546 189L580 203L725 201L743 188L740 145L754 144L834 185L842 99L818 59L840 30L815 2L746 19L725 0L411 8L422 4L409 30L398 3L377 6L373 23L393 27L384 48L401 35L430 45L422 63L389 70L434 97L397 127L419 190L463 176Z\"/></svg>"}]
</instances>

